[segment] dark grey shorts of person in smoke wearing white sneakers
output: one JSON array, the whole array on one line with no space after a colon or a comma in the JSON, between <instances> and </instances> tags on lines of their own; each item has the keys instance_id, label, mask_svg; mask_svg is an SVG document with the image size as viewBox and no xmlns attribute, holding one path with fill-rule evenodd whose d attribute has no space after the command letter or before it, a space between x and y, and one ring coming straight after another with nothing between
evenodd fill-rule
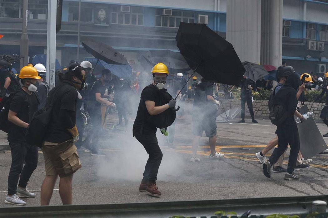
<instances>
[{"instance_id":1,"label":"dark grey shorts of person in smoke wearing white sneakers","mask_svg":"<svg viewBox=\"0 0 328 218\"><path fill-rule=\"evenodd\" d=\"M207 137L216 136L216 117L203 116L201 118L193 116L193 135L202 136L203 131Z\"/></svg>"}]
</instances>

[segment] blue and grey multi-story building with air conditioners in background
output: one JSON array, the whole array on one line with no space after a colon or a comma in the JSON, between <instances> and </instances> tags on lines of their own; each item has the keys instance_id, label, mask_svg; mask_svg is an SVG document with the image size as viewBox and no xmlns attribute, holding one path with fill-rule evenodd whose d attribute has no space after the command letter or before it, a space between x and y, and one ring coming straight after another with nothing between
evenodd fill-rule
<instances>
[{"instance_id":1,"label":"blue and grey multi-story building with air conditioners in background","mask_svg":"<svg viewBox=\"0 0 328 218\"><path fill-rule=\"evenodd\" d=\"M181 21L205 23L225 38L227 1L82 0L80 35L106 42L131 63L138 62L140 54L151 49L177 51L175 35ZM47 0L29 0L30 57L45 53L47 4ZM91 57L84 49L76 57L78 5L77 0L63 2L56 50L61 65ZM0 54L19 54L22 16L22 0L0 0L0 34L5 35ZM299 73L327 72L328 0L284 0L282 22L282 59Z\"/></svg>"}]
</instances>

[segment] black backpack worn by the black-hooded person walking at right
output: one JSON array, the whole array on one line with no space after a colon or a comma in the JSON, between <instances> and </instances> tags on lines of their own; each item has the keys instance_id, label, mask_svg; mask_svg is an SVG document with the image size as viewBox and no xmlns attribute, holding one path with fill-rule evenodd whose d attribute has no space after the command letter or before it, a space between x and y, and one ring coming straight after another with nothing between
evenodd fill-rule
<instances>
[{"instance_id":1,"label":"black backpack worn by the black-hooded person walking at right","mask_svg":"<svg viewBox=\"0 0 328 218\"><path fill-rule=\"evenodd\" d=\"M282 125L287 118L287 111L283 105L274 104L276 88L271 92L269 96L269 119L272 124L276 126Z\"/></svg>"}]
</instances>

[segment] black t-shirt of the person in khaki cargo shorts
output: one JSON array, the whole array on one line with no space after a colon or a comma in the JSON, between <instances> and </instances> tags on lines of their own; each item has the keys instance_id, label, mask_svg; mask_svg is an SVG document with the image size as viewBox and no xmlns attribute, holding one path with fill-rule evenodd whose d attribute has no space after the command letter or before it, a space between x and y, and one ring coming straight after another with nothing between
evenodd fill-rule
<instances>
[{"instance_id":1,"label":"black t-shirt of the person in khaki cargo shorts","mask_svg":"<svg viewBox=\"0 0 328 218\"><path fill-rule=\"evenodd\" d=\"M47 104L50 105L51 100L55 98L50 125L47 129L45 141L52 143L62 143L72 139L71 133L64 127L59 113L61 109L71 111L70 118L73 124L76 123L76 101L77 91L69 82L63 81L49 92Z\"/></svg>"}]
</instances>

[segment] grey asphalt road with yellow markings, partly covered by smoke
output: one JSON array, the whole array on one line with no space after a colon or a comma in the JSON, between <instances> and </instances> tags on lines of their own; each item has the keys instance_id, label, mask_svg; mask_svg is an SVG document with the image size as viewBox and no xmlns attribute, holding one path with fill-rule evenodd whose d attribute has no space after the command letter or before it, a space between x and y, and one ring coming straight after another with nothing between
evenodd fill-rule
<instances>
[{"instance_id":1,"label":"grey asphalt road with yellow markings, partly covered by smoke","mask_svg":"<svg viewBox=\"0 0 328 218\"><path fill-rule=\"evenodd\" d=\"M266 178L255 153L260 151L269 140L275 137L273 126L268 120L253 124L217 125L217 151L225 154L221 160L209 160L208 138L202 138L199 151L200 162L193 163L191 157L192 126L191 117L177 120L174 144L169 149L163 136L159 144L164 157L158 173L157 185L162 191L160 198L154 198L138 191L144 165L148 158L142 145L127 132L116 130L117 122L111 116L109 125L113 129L102 139L106 157L94 157L88 152L80 153L82 168L73 177L74 204L107 204L159 202L202 199L234 199L278 196L303 196L327 194L328 154L314 157L311 167L298 171L302 178L297 181L284 180L284 174L272 173ZM131 119L131 122L133 120ZM322 134L327 132L324 124L318 124ZM131 128L131 126L129 126ZM5 135L0 134L4 139ZM326 141L328 142L328 141ZM288 156L286 157L286 160ZM7 178L10 169L10 151L0 153L0 207L12 207L4 203L7 194ZM36 198L25 199L29 206L38 206L40 187L44 179L44 159L39 156L38 167L31 176L28 188L35 190ZM51 205L60 205L58 181ZM13 206L17 207L17 206Z\"/></svg>"}]
</instances>

